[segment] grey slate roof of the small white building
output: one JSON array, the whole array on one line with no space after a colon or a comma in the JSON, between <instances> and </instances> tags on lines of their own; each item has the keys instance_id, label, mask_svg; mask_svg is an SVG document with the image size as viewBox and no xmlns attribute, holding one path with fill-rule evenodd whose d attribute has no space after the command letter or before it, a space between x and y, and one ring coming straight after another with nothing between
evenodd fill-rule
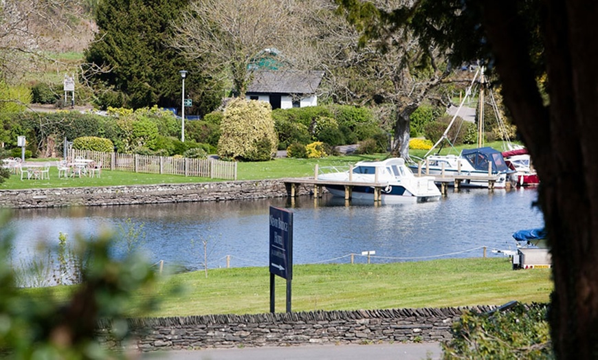
<instances>
[{"instance_id":1,"label":"grey slate roof of the small white building","mask_svg":"<svg viewBox=\"0 0 598 360\"><path fill-rule=\"evenodd\" d=\"M256 71L247 93L315 93L324 71Z\"/></svg>"}]
</instances>

